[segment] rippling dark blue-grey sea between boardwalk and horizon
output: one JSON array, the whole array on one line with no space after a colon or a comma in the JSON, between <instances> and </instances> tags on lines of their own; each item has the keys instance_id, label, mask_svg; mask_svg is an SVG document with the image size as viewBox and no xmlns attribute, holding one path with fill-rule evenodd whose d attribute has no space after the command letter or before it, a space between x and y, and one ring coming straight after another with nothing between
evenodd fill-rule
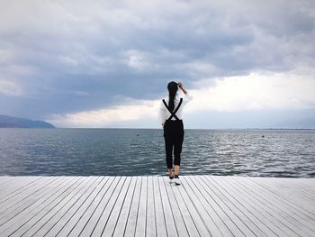
<instances>
[{"instance_id":1,"label":"rippling dark blue-grey sea between boardwalk and horizon","mask_svg":"<svg viewBox=\"0 0 315 237\"><path fill-rule=\"evenodd\" d=\"M315 130L184 131L182 175L315 178ZM164 176L161 129L0 129L0 176Z\"/></svg>"}]
</instances>

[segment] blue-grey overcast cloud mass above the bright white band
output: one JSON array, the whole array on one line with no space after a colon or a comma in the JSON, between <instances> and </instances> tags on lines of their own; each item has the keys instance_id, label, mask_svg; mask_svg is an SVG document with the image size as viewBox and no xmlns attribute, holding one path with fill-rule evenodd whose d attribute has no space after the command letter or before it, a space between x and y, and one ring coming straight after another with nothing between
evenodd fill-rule
<instances>
[{"instance_id":1,"label":"blue-grey overcast cloud mass above the bright white band","mask_svg":"<svg viewBox=\"0 0 315 237\"><path fill-rule=\"evenodd\" d=\"M314 63L313 1L8 1L1 114L41 118L155 99L166 82ZM0 84L1 85L1 84Z\"/></svg>"}]
</instances>

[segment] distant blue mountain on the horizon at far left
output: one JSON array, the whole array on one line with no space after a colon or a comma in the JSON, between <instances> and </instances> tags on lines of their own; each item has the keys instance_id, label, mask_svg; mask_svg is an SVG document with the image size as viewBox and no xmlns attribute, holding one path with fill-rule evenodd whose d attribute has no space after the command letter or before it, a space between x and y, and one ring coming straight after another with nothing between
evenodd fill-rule
<instances>
[{"instance_id":1,"label":"distant blue mountain on the horizon at far left","mask_svg":"<svg viewBox=\"0 0 315 237\"><path fill-rule=\"evenodd\" d=\"M55 128L51 123L0 114L0 128Z\"/></svg>"}]
</instances>

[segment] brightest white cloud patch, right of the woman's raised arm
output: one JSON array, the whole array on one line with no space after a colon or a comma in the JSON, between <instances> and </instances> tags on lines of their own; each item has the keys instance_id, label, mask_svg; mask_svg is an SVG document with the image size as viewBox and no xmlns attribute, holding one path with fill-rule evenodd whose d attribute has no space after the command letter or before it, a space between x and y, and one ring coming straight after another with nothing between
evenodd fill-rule
<instances>
[{"instance_id":1,"label":"brightest white cloud patch, right of the woman's raised arm","mask_svg":"<svg viewBox=\"0 0 315 237\"><path fill-rule=\"evenodd\" d=\"M315 108L314 74L251 73L217 78L194 89L189 112Z\"/></svg>"}]
</instances>

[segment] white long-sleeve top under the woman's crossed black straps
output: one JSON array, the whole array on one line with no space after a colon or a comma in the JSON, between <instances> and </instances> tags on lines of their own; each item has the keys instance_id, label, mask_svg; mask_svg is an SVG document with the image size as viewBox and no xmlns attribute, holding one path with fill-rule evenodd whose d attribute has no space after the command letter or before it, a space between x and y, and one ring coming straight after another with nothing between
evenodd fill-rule
<instances>
[{"instance_id":1,"label":"white long-sleeve top under the woman's crossed black straps","mask_svg":"<svg viewBox=\"0 0 315 237\"><path fill-rule=\"evenodd\" d=\"M179 107L178 111L176 112L176 116L179 119L183 119L183 107L184 107L184 105L186 105L189 101L191 101L193 99L193 96L188 95L188 93L184 94L184 96L178 96L178 94L176 94L175 99L174 99L175 108L179 104L181 97L183 98L183 102L182 102L182 105ZM164 98L164 100L166 101L166 105L168 105L169 97L166 96ZM159 110L158 110L158 118L159 118L159 122L162 124L162 126L164 126L164 123L166 123L166 119L168 119L172 115L166 109L166 105L164 105L163 101L161 101L161 104L159 105ZM175 120L175 117L172 117L172 120Z\"/></svg>"}]
</instances>

